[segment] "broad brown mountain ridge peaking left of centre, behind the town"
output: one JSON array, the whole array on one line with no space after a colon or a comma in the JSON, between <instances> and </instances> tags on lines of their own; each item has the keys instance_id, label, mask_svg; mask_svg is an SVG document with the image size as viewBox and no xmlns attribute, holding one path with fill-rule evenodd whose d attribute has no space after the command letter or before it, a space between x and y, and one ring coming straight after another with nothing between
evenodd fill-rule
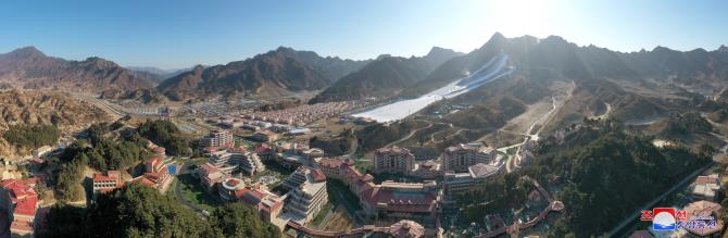
<instances>
[{"instance_id":1,"label":"broad brown mountain ridge peaking left of centre, behind the town","mask_svg":"<svg viewBox=\"0 0 728 238\"><path fill-rule=\"evenodd\" d=\"M322 58L311 51L280 47L243 61L192 71L172 77L158 91L173 100L211 96L276 97L321 90L366 65L368 61Z\"/></svg>"}]
</instances>

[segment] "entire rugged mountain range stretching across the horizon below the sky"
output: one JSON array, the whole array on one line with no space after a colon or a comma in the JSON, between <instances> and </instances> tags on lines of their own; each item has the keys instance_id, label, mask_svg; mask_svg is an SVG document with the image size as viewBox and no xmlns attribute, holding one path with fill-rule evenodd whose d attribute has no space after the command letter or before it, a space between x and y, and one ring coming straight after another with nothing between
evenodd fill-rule
<instances>
[{"instance_id":1,"label":"entire rugged mountain range stretching across the horizon below the sky","mask_svg":"<svg viewBox=\"0 0 728 238\"><path fill-rule=\"evenodd\" d=\"M498 54L510 57L509 64L516 68L512 77L531 79L670 83L706 91L720 90L728 76L725 46L714 51L682 52L656 47L624 53L594 46L579 47L557 36L505 38L494 34L482 47L466 54L436 47L423 57L385 54L355 61L280 47L247 60L176 72L125 68L96 57L70 61L25 47L0 54L0 88L46 88L131 99L266 98L301 91L319 91L312 103L386 99L425 93L477 71ZM591 85L614 88L606 87L607 84Z\"/></svg>"}]
</instances>

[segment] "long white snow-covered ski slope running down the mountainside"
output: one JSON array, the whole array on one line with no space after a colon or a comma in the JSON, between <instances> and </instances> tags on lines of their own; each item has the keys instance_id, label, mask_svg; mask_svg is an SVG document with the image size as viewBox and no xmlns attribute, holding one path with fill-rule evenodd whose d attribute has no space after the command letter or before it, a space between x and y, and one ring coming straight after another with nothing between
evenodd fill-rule
<instances>
[{"instance_id":1,"label":"long white snow-covered ski slope running down the mountainside","mask_svg":"<svg viewBox=\"0 0 728 238\"><path fill-rule=\"evenodd\" d=\"M506 67L509 57L506 54L498 55L488 61L482 67L475 73L460 78L444 87L438 88L429 93L421 96L416 99L401 100L386 104L366 112L354 114L355 117L369 117L377 122L391 122L402 120L412 115L425 107L440 101L442 99L454 98L462 93L468 92L487 83L501 78L511 74L514 68Z\"/></svg>"}]
</instances>

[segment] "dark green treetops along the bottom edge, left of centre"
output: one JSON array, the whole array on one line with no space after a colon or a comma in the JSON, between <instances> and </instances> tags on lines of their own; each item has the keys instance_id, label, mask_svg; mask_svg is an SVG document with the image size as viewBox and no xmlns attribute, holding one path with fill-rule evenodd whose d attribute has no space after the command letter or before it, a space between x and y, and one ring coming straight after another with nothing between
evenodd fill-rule
<instances>
[{"instance_id":1,"label":"dark green treetops along the bottom edge, left of centre","mask_svg":"<svg viewBox=\"0 0 728 238\"><path fill-rule=\"evenodd\" d=\"M229 203L209 221L175 198L142 185L129 184L99 196L88 209L57 204L38 237L280 237L242 203Z\"/></svg>"}]
</instances>

